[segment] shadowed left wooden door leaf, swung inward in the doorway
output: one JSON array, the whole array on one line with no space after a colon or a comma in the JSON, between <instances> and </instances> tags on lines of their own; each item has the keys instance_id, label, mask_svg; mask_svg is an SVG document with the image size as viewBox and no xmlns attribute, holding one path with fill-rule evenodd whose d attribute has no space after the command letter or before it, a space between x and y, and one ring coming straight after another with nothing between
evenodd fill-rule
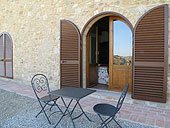
<instances>
[{"instance_id":1,"label":"shadowed left wooden door leaf, swung inward in the doorway","mask_svg":"<svg viewBox=\"0 0 170 128\"><path fill-rule=\"evenodd\" d=\"M90 88L98 83L98 27L94 25L86 37L87 84Z\"/></svg>"}]
</instances>

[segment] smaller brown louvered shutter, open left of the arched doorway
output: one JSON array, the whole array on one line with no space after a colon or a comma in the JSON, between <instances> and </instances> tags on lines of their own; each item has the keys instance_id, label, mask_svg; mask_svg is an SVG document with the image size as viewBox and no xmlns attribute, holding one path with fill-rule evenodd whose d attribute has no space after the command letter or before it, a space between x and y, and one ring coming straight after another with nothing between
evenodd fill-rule
<instances>
[{"instance_id":1,"label":"smaller brown louvered shutter, open left of the arched doorway","mask_svg":"<svg viewBox=\"0 0 170 128\"><path fill-rule=\"evenodd\" d=\"M60 30L60 85L80 87L80 32L67 20Z\"/></svg>"}]
</instances>

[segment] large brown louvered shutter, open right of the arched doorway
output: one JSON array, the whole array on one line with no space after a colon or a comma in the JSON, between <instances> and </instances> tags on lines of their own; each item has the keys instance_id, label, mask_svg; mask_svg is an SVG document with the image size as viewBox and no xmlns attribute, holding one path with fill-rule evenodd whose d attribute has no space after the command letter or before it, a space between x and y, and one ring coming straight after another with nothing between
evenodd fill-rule
<instances>
[{"instance_id":1,"label":"large brown louvered shutter, open right of the arched doorway","mask_svg":"<svg viewBox=\"0 0 170 128\"><path fill-rule=\"evenodd\" d=\"M151 9L134 29L133 92L135 99L166 102L168 5Z\"/></svg>"}]
</instances>

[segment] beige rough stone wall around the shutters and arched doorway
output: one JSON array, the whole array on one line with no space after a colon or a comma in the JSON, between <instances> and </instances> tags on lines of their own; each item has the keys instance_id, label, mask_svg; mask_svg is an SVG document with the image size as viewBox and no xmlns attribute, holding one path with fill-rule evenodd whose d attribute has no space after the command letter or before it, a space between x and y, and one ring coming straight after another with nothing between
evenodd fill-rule
<instances>
[{"instance_id":1,"label":"beige rough stone wall around the shutters and arched doorway","mask_svg":"<svg viewBox=\"0 0 170 128\"><path fill-rule=\"evenodd\" d=\"M34 74L44 73L50 86L59 88L60 19L72 21L81 31L94 15L114 11L124 15L134 26L146 11L161 4L170 4L170 1L1 0L0 33L8 32L13 39L14 80L29 84ZM169 81L168 77L170 93Z\"/></svg>"}]
</instances>

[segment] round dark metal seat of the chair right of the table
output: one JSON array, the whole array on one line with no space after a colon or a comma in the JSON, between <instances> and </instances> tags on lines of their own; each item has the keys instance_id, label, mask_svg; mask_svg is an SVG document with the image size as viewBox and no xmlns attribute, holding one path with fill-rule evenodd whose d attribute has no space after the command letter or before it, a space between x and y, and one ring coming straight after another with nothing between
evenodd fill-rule
<instances>
[{"instance_id":1,"label":"round dark metal seat of the chair right of the table","mask_svg":"<svg viewBox=\"0 0 170 128\"><path fill-rule=\"evenodd\" d=\"M103 116L114 116L117 112L117 108L111 104L96 104L93 110Z\"/></svg>"}]
</instances>

